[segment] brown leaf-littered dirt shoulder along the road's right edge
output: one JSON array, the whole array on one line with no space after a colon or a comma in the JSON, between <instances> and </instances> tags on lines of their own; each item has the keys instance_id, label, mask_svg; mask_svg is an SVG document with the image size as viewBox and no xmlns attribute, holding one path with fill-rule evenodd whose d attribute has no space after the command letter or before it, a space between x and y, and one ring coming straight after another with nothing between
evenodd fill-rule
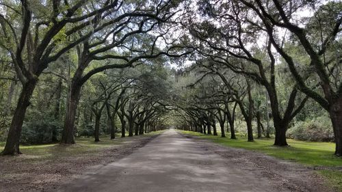
<instances>
[{"instance_id":1,"label":"brown leaf-littered dirt shoulder along the road's right edge","mask_svg":"<svg viewBox=\"0 0 342 192\"><path fill-rule=\"evenodd\" d=\"M195 136L183 135L183 137L194 139L203 150L220 154L220 156L227 160L226 163L229 165L235 164L237 167L259 169L260 176L273 180L276 183L278 191L335 191L326 186L325 180L313 170L313 167L306 167L291 161L276 159L272 156L251 150L221 146L220 144Z\"/></svg>"}]
</instances>

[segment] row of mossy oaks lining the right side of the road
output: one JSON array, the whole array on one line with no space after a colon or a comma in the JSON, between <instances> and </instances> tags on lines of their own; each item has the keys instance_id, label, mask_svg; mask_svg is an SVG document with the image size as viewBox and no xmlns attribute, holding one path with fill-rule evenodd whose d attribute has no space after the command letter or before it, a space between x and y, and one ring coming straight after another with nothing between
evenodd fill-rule
<instances>
[{"instance_id":1,"label":"row of mossy oaks lining the right side of the road","mask_svg":"<svg viewBox=\"0 0 342 192\"><path fill-rule=\"evenodd\" d=\"M213 120L222 124L226 118L234 138L231 111L239 106L248 141L253 141L254 115L258 131L263 127L253 85L267 93L275 146L287 146L289 125L310 98L328 112L335 154L341 156L341 2L242 0L198 1L197 5L198 10L189 10L190 19L182 22L190 33L187 43L197 53L190 70L212 77L213 84L199 85L205 88L193 100L197 105L183 109L190 129L205 132L207 126L210 132L213 126L215 132ZM313 15L298 15L309 11ZM201 82L202 78L195 84ZM280 98L284 86L289 91L285 99ZM227 102L235 105L229 109Z\"/></svg>"}]
</instances>

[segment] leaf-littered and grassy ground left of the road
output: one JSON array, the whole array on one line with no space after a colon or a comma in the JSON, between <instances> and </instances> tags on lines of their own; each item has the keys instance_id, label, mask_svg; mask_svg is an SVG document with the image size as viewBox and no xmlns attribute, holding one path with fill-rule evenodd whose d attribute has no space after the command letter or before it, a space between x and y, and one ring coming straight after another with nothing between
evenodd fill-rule
<instances>
[{"instance_id":1,"label":"leaf-littered and grassy ground left of the road","mask_svg":"<svg viewBox=\"0 0 342 192\"><path fill-rule=\"evenodd\" d=\"M122 159L160 133L114 140L106 136L97 143L94 138L77 138L73 146L21 146L21 155L0 156L0 191L55 191L61 183L81 176L88 169Z\"/></svg>"}]
</instances>

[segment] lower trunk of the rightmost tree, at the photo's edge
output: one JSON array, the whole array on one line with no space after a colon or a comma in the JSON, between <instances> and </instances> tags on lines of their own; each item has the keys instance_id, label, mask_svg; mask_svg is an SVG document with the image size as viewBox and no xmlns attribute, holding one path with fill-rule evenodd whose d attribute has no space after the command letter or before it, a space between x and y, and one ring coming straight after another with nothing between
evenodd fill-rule
<instances>
[{"instance_id":1,"label":"lower trunk of the rightmost tree, at the photo's edge","mask_svg":"<svg viewBox=\"0 0 342 192\"><path fill-rule=\"evenodd\" d=\"M330 105L329 115L335 137L335 155L342 156L342 97Z\"/></svg>"}]
</instances>

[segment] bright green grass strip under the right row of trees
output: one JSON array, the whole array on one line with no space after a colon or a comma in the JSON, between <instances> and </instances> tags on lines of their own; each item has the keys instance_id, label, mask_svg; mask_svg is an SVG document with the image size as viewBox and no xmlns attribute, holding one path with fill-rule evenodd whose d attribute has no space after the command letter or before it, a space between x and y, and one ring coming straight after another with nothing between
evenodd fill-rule
<instances>
[{"instance_id":1,"label":"bright green grass strip under the right row of trees","mask_svg":"<svg viewBox=\"0 0 342 192\"><path fill-rule=\"evenodd\" d=\"M246 136L237 135L237 139L229 139L230 135L226 134L225 138L213 135L204 135L192 131L180 131L185 135L194 135L202 139L219 143L222 146L230 146L233 148L244 148L256 152L263 152L269 156L279 159L286 159L302 163L304 165L319 167L323 170L317 173L327 180L329 186L334 187L337 191L342 191L342 172L336 169L342 167L342 158L334 156L334 143L328 142L306 142L287 139L290 147L273 146L274 139L255 139L254 142L248 142Z\"/></svg>"}]
</instances>

